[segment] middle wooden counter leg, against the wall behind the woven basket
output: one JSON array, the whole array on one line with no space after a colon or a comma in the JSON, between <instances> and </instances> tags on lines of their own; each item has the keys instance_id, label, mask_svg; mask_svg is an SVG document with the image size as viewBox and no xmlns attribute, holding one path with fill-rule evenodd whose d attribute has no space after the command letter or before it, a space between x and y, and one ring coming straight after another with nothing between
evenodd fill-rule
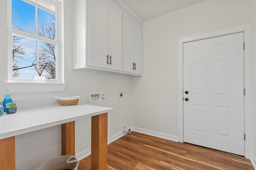
<instances>
[{"instance_id":1,"label":"middle wooden counter leg, against the wall behind the woven basket","mask_svg":"<svg viewBox=\"0 0 256 170\"><path fill-rule=\"evenodd\" d=\"M75 121L61 125L61 154L75 155Z\"/></svg>"}]
</instances>

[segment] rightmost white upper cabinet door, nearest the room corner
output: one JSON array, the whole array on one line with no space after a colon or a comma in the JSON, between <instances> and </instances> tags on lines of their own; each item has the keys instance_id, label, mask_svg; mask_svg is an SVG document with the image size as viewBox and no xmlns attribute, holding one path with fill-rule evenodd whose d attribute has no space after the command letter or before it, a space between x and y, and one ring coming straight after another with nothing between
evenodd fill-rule
<instances>
[{"instance_id":1,"label":"rightmost white upper cabinet door, nearest the room corner","mask_svg":"<svg viewBox=\"0 0 256 170\"><path fill-rule=\"evenodd\" d=\"M142 26L133 24L133 62L136 63L134 73L142 74Z\"/></svg>"}]
</instances>

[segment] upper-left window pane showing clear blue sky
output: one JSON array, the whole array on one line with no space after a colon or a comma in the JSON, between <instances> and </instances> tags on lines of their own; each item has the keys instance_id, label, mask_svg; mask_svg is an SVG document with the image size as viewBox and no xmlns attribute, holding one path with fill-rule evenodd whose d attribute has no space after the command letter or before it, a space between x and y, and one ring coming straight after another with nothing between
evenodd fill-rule
<instances>
[{"instance_id":1,"label":"upper-left window pane showing clear blue sky","mask_svg":"<svg viewBox=\"0 0 256 170\"><path fill-rule=\"evenodd\" d=\"M35 33L35 6L22 0L12 0L12 28Z\"/></svg>"}]
</instances>

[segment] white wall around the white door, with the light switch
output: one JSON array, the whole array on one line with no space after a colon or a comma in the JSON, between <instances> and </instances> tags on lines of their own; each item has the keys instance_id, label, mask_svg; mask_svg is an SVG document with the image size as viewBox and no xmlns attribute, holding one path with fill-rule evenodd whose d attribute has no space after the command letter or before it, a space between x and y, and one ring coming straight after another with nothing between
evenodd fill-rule
<instances>
[{"instance_id":1,"label":"white wall around the white door, with the light switch","mask_svg":"<svg viewBox=\"0 0 256 170\"><path fill-rule=\"evenodd\" d=\"M255 22L254 6L255 1L208 0L144 22L143 76L133 78L132 126L176 140L178 39Z\"/></svg>"}]
</instances>

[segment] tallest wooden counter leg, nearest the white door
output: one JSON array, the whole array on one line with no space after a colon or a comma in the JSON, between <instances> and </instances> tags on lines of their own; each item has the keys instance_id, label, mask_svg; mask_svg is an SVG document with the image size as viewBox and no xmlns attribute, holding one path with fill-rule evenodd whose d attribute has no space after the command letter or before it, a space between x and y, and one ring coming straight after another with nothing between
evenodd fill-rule
<instances>
[{"instance_id":1,"label":"tallest wooden counter leg, nearest the white door","mask_svg":"<svg viewBox=\"0 0 256 170\"><path fill-rule=\"evenodd\" d=\"M108 169L108 113L92 116L92 170Z\"/></svg>"}]
</instances>

